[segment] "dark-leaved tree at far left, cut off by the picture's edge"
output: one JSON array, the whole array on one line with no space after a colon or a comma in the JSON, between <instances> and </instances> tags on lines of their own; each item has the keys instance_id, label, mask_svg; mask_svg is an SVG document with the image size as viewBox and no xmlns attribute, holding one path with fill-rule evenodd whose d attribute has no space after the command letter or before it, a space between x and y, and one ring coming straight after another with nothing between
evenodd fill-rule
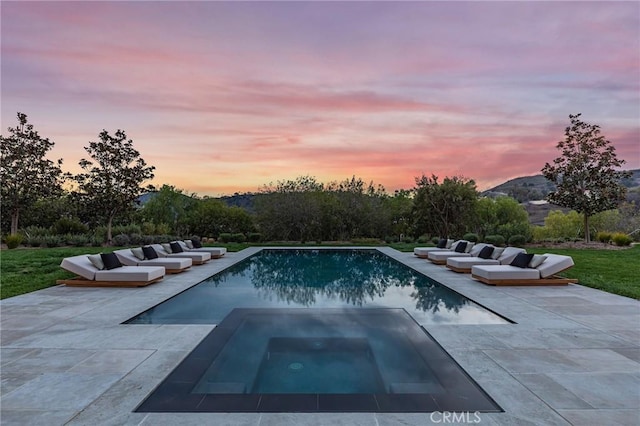
<instances>
[{"instance_id":1,"label":"dark-leaved tree at far left, cut off by the picture's edge","mask_svg":"<svg viewBox=\"0 0 640 426\"><path fill-rule=\"evenodd\" d=\"M42 138L26 114L18 113L18 125L9 127L11 136L0 136L0 182L2 210L11 215L11 234L18 232L20 213L42 198L62 193L65 175L62 159L48 160L55 145Z\"/></svg>"}]
</instances>

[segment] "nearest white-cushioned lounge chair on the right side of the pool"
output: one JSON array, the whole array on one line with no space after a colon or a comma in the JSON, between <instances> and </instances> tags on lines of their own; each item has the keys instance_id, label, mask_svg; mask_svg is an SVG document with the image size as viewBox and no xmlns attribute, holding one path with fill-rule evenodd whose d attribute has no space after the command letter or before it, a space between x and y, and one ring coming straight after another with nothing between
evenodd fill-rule
<instances>
[{"instance_id":1,"label":"nearest white-cushioned lounge chair on the right side of the pool","mask_svg":"<svg viewBox=\"0 0 640 426\"><path fill-rule=\"evenodd\" d=\"M520 255L516 256L513 262L516 262L519 257ZM540 260L542 263L537 264ZM578 282L575 279L556 275L574 265L570 256L545 253L534 257L524 267L514 266L513 262L510 265L472 266L471 276L489 285L567 285Z\"/></svg>"}]
</instances>

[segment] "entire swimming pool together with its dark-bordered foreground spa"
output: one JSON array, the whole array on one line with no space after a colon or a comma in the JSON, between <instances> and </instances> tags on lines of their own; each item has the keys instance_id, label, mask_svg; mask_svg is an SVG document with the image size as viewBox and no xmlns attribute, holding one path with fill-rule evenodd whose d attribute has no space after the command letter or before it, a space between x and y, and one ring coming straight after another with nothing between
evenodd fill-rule
<instances>
[{"instance_id":1,"label":"entire swimming pool together with its dark-bordered foreground spa","mask_svg":"<svg viewBox=\"0 0 640 426\"><path fill-rule=\"evenodd\" d=\"M509 321L377 250L265 249L127 322L216 324L138 412L502 411L423 326Z\"/></svg>"}]
</instances>

